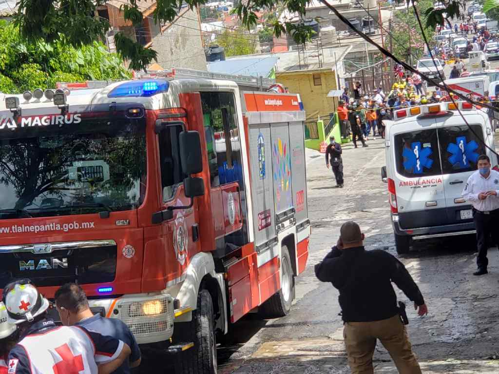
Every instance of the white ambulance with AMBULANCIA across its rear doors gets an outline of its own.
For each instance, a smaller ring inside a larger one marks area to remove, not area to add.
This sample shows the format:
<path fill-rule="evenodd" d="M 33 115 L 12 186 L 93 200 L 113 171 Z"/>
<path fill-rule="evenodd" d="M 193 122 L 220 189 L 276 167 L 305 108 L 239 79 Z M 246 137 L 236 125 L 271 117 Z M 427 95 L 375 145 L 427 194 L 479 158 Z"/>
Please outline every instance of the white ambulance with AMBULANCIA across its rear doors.
<path fill-rule="evenodd" d="M 469 128 L 452 102 L 394 110 L 386 121 L 388 200 L 397 253 L 407 253 L 411 240 L 475 232 L 471 205 L 461 193 L 477 170 L 477 159 L 492 149 L 489 117 L 471 104 L 458 101 Z"/>

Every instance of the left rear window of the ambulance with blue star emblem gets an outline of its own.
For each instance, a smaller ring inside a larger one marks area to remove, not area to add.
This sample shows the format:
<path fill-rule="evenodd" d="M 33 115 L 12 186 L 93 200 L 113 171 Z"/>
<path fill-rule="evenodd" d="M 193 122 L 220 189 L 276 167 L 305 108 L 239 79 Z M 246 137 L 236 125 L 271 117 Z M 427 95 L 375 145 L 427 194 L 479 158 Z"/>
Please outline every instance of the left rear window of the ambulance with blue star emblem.
<path fill-rule="evenodd" d="M 437 130 L 420 130 L 395 135 L 395 164 L 404 177 L 442 174 Z"/>

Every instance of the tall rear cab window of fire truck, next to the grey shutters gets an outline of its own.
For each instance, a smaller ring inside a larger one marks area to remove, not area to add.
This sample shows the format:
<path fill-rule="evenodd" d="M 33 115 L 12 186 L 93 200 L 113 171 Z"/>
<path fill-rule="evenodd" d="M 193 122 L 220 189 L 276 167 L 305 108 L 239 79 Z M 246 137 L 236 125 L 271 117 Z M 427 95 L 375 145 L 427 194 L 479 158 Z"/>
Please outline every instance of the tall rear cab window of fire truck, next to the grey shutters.
<path fill-rule="evenodd" d="M 212 187 L 242 180 L 241 146 L 232 92 L 202 92 Z"/>

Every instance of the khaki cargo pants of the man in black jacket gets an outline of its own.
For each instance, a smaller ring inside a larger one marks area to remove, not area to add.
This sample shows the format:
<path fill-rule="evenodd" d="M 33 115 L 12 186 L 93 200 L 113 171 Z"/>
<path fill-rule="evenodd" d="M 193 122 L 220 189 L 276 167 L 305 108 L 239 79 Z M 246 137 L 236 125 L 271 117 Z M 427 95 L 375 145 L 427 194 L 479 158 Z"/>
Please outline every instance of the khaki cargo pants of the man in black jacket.
<path fill-rule="evenodd" d="M 376 340 L 390 353 L 400 374 L 421 374 L 400 317 L 374 322 L 346 322 L 343 330 L 352 374 L 373 374 Z"/>

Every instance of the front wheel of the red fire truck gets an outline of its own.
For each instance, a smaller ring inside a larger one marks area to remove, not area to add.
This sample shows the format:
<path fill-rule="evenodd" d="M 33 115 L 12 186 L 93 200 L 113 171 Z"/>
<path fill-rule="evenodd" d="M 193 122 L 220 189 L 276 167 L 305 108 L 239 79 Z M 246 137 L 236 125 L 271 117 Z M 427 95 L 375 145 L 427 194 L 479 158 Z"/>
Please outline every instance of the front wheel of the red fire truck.
<path fill-rule="evenodd" d="M 208 290 L 198 294 L 198 309 L 192 322 L 182 323 L 182 339 L 194 342 L 194 347 L 183 352 L 183 371 L 179 374 L 217 374 L 217 341 L 212 297 Z M 176 373 L 177 374 L 177 373 Z"/>

